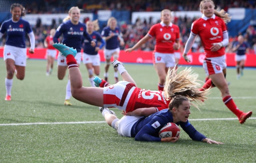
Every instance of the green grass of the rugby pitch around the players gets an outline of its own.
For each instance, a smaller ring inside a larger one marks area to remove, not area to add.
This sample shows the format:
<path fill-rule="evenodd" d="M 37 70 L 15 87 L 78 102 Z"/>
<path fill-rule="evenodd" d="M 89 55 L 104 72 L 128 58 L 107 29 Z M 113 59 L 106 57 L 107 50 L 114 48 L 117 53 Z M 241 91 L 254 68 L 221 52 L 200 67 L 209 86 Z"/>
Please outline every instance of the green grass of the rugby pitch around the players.
<path fill-rule="evenodd" d="M 104 120 L 98 107 L 74 98 L 73 106 L 64 106 L 67 77 L 62 81 L 57 79 L 56 62 L 53 74 L 46 77 L 45 66 L 45 60 L 28 60 L 25 79 L 14 78 L 12 101 L 5 101 L 6 70 L 2 61 L 0 124 Z M 125 64 L 125 67 L 139 87 L 157 89 L 158 77 L 152 65 Z M 203 68 L 193 69 L 204 80 Z M 90 86 L 85 66 L 81 65 L 80 70 L 84 86 Z M 244 76 L 236 80 L 235 69 L 227 70 L 232 97 L 241 110 L 252 110 L 252 117 L 256 113 L 255 72 L 245 69 Z M 113 83 L 113 69 L 109 74 Z M 113 110 L 118 117 L 122 116 L 121 111 Z M 189 118 L 236 118 L 223 104 L 217 88 L 211 90 L 200 110 L 192 107 Z M 242 125 L 238 120 L 190 122 L 207 137 L 225 144 L 192 141 L 182 129 L 176 143 L 161 143 L 121 137 L 106 123 L 1 125 L 0 162 L 255 162 L 256 119 L 249 118 Z"/>

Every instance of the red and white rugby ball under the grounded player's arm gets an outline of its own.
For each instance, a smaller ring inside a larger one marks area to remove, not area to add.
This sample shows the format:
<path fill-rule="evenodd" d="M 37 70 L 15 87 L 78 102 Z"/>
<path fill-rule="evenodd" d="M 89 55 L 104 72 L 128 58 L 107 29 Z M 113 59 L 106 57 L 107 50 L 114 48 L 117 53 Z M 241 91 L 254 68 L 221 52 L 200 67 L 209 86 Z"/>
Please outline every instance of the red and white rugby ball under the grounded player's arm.
<path fill-rule="evenodd" d="M 178 137 L 180 135 L 180 128 L 173 122 L 166 123 L 159 131 L 160 138 Z"/>

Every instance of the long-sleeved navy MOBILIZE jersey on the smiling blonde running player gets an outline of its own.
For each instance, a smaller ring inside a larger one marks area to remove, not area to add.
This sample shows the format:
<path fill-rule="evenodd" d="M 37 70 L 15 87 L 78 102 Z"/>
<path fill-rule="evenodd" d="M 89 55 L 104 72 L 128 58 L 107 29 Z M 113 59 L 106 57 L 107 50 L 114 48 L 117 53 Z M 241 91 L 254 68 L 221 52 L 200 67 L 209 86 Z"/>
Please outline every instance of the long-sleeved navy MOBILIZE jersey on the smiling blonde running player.
<path fill-rule="evenodd" d="M 74 25 L 70 20 L 60 24 L 53 36 L 54 43 L 59 43 L 58 38 L 63 34 L 62 43 L 68 47 L 73 47 L 77 52 L 81 52 L 83 38 L 92 41 L 90 35 L 86 32 L 86 25 L 78 23 Z"/>

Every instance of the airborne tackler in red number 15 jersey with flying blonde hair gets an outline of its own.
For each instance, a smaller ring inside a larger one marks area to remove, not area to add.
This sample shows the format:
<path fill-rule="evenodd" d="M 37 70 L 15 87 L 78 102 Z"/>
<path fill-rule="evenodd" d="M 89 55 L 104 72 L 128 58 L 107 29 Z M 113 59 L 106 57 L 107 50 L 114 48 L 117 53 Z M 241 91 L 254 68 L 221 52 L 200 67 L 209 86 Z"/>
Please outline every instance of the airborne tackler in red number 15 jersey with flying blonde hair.
<path fill-rule="evenodd" d="M 200 86 L 197 80 L 198 74 L 192 74 L 191 69 L 185 69 L 178 74 L 175 73 L 175 70 L 168 71 L 165 92 L 138 88 L 122 63 L 117 60 L 114 60 L 112 65 L 125 81 L 119 81 L 107 87 L 83 87 L 81 73 L 74 58 L 77 53 L 76 50 L 63 44 L 53 44 L 53 46 L 66 56 L 72 96 L 94 106 L 117 107 L 126 112 L 136 109 L 138 113 L 136 115 L 147 116 L 158 110 L 168 108 L 170 99 L 175 95 L 180 94 L 191 100 L 201 101 L 206 99 L 208 94 L 208 90 L 198 90 Z M 106 81 L 105 83 L 100 81 L 100 85 L 104 86 L 105 84 L 107 84 Z"/>

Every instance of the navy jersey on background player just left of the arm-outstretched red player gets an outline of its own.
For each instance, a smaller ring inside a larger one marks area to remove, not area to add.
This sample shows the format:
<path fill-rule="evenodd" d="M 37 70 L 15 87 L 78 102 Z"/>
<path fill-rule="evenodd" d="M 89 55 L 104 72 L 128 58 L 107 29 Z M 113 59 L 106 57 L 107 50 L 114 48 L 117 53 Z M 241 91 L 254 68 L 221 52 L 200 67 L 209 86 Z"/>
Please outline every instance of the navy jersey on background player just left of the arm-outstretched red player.
<path fill-rule="evenodd" d="M 116 49 L 120 45 L 118 40 L 120 30 L 118 27 L 116 27 L 114 30 L 111 30 L 110 27 L 104 27 L 101 32 L 101 35 L 102 37 L 108 37 L 111 33 L 114 33 L 115 35 L 106 41 L 106 49 L 108 50 Z"/>

